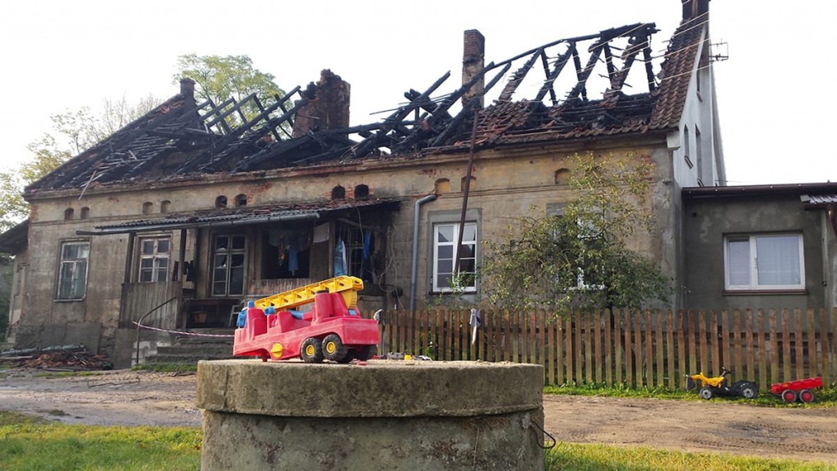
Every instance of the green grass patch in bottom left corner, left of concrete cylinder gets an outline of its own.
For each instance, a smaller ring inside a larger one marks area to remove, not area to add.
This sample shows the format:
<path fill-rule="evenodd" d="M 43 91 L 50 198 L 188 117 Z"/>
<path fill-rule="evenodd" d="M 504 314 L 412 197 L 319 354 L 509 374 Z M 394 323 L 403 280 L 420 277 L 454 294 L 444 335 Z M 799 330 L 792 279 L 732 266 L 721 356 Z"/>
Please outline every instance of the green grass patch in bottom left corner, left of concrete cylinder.
<path fill-rule="evenodd" d="M 0 469 L 198 469 L 198 427 L 103 427 L 0 412 Z"/>

